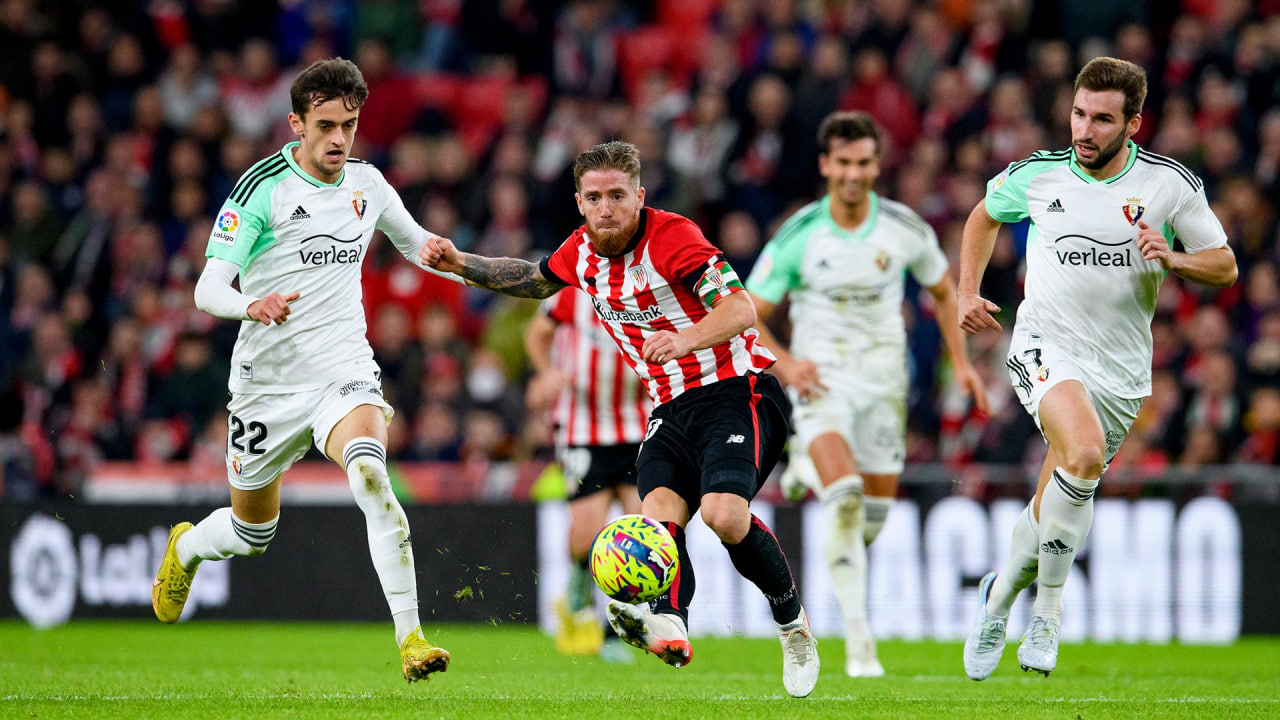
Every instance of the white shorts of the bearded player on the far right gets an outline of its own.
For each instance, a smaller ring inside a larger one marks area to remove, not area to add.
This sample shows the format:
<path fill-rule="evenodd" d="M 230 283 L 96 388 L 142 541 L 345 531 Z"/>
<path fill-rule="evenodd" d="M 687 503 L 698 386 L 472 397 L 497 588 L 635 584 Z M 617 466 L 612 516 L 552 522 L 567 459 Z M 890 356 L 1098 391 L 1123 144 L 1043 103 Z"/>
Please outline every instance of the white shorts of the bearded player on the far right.
<path fill-rule="evenodd" d="M 1009 359 L 1005 361 L 1014 392 L 1027 413 L 1036 419 L 1036 427 L 1044 428 L 1039 420 L 1039 404 L 1044 393 L 1064 380 L 1079 380 L 1084 384 L 1093 410 L 1102 421 L 1102 432 L 1107 441 L 1106 462 L 1120 451 L 1120 443 L 1129 436 L 1129 428 L 1138 418 L 1142 397 L 1120 397 L 1107 392 L 1093 377 L 1080 369 L 1061 347 L 1025 328 L 1014 328 L 1014 338 L 1009 346 Z"/>

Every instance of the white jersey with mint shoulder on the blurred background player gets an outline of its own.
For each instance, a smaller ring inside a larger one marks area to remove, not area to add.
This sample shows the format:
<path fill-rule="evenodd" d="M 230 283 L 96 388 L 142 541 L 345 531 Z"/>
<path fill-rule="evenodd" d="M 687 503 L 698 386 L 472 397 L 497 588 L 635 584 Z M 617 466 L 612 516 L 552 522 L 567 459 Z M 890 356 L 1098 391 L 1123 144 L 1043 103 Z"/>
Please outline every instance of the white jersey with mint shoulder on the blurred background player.
<path fill-rule="evenodd" d="M 909 272 L 924 287 L 942 282 L 947 258 L 937 234 L 906 205 L 873 192 L 854 229 L 836 224 L 829 197 L 797 210 L 764 246 L 746 288 L 773 304 L 790 295 L 791 354 L 838 370 L 851 354 L 901 355 Z"/>

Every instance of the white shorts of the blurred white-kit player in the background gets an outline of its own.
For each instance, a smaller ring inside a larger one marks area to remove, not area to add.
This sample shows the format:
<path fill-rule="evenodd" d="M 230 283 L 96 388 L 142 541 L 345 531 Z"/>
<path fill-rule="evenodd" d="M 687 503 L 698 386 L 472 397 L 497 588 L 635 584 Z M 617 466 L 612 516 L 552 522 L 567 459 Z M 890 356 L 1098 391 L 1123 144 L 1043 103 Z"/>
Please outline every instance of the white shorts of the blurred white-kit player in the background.
<path fill-rule="evenodd" d="M 801 400 L 791 392 L 792 451 L 808 452 L 814 438 L 836 433 L 854 451 L 859 473 L 900 475 L 906 459 L 905 348 L 864 352 L 850 366 L 819 365 L 827 391 Z"/>

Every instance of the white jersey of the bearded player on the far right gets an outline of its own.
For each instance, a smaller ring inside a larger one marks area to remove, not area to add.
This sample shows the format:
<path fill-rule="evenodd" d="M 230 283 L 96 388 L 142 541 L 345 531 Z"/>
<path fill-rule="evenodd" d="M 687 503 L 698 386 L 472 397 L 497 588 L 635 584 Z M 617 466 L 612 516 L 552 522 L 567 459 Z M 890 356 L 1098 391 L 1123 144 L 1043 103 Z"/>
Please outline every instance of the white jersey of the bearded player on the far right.
<path fill-rule="evenodd" d="M 1166 272 L 1143 260 L 1138 222 L 1188 254 L 1226 245 L 1204 184 L 1175 160 L 1128 146 L 1120 174 L 1097 181 L 1074 150 L 1041 151 L 987 183 L 987 214 L 1030 218 L 1027 299 L 1018 328 L 1075 354 L 1098 384 L 1120 397 L 1151 395 L 1151 319 Z"/>

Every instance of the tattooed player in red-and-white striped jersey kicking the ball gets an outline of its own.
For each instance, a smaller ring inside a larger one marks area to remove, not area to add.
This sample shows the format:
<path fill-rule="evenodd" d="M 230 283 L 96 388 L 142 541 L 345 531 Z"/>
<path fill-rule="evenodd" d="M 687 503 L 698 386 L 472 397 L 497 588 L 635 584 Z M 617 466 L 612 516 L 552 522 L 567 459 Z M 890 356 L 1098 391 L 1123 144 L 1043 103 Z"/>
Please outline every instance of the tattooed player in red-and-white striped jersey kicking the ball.
<path fill-rule="evenodd" d="M 586 223 L 541 263 L 481 258 L 434 237 L 419 252 L 430 268 L 518 297 L 582 290 L 655 409 L 640 457 L 641 511 L 667 525 L 680 550 L 671 591 L 650 609 L 609 603 L 618 635 L 685 665 L 694 569 L 685 525 L 701 510 L 733 568 L 764 593 L 782 642 L 782 684 L 795 697 L 818 680 L 817 642 L 782 547 L 749 502 L 790 432 L 791 404 L 763 370 L 773 356 L 753 328 L 755 306 L 724 256 L 686 218 L 645 208 L 640 154 L 605 142 L 573 161 Z"/>

